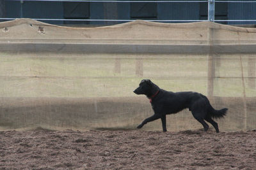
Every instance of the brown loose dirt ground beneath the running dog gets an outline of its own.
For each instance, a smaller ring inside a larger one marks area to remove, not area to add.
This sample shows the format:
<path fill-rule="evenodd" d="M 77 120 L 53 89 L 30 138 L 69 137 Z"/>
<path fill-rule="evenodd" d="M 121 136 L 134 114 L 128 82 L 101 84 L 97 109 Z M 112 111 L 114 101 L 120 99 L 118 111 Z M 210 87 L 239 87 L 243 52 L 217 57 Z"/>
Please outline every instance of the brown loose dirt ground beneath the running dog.
<path fill-rule="evenodd" d="M 256 169 L 256 131 L 2 131 L 0 169 Z"/>

